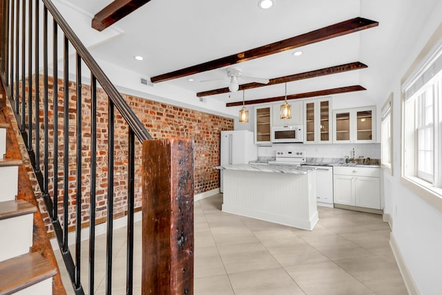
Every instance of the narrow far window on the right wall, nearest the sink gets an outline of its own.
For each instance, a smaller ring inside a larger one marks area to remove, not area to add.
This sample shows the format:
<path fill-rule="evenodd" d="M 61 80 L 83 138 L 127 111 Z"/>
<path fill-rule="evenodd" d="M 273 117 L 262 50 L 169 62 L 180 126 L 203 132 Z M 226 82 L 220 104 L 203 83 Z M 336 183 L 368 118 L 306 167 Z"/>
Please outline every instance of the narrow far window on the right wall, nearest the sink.
<path fill-rule="evenodd" d="M 385 102 L 382 107 L 382 117 L 381 117 L 381 165 L 390 174 L 392 173 L 392 162 L 393 162 L 393 93 L 388 97 L 387 102 Z"/>

